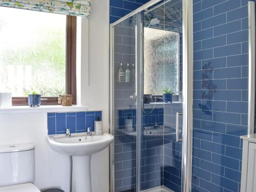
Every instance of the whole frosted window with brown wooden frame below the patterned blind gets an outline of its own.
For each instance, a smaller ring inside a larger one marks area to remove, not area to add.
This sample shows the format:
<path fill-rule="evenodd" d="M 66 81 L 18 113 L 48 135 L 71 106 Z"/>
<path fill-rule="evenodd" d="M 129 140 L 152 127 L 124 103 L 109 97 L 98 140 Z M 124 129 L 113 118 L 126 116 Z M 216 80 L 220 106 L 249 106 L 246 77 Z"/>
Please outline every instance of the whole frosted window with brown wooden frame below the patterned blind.
<path fill-rule="evenodd" d="M 76 103 L 76 17 L 0 7 L 0 92 L 27 105 L 31 91 L 41 104 Z"/>

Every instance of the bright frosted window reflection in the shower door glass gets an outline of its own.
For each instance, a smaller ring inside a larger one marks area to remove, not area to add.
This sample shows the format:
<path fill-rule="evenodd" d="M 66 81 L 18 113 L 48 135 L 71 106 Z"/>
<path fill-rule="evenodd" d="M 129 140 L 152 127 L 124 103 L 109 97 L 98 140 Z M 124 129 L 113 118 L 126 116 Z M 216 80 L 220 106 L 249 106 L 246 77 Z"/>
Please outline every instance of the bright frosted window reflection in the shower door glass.
<path fill-rule="evenodd" d="M 179 94 L 179 33 L 144 28 L 144 94 Z"/>

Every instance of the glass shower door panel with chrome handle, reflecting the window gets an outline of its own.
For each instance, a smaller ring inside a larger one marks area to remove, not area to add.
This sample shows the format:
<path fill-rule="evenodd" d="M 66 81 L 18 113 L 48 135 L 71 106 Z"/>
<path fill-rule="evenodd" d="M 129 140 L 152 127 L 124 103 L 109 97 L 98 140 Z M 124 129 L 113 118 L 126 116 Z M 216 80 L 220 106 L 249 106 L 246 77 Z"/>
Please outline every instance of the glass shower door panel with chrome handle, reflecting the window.
<path fill-rule="evenodd" d="M 142 13 L 140 190 L 181 191 L 182 2 Z"/>

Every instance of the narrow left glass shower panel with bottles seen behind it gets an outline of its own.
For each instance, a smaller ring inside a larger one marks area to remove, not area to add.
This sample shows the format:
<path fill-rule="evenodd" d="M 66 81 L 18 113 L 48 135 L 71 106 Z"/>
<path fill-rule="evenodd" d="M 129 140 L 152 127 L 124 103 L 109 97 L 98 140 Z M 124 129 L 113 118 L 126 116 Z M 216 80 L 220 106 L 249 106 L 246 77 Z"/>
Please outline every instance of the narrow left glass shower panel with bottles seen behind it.
<path fill-rule="evenodd" d="M 113 27 L 114 191 L 136 191 L 136 15 Z"/>

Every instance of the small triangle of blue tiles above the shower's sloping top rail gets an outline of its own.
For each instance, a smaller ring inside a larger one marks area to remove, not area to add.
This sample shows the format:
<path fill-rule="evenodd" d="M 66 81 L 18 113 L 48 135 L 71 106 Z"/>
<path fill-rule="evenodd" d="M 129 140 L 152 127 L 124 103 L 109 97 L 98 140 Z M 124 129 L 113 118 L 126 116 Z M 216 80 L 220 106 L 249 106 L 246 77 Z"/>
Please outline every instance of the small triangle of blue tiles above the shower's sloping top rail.
<path fill-rule="evenodd" d="M 110 23 L 139 8 L 150 0 L 110 0 Z"/>

